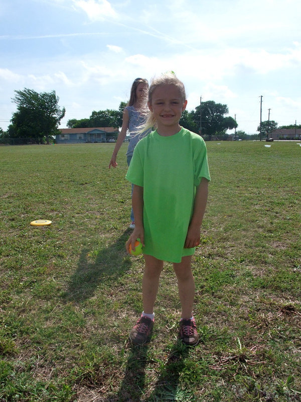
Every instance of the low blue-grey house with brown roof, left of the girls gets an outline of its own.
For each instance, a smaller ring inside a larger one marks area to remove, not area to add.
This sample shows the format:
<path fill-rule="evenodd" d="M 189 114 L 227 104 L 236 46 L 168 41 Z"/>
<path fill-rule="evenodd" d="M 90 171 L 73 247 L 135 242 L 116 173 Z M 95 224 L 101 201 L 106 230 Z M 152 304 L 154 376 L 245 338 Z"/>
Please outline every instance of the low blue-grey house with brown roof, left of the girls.
<path fill-rule="evenodd" d="M 60 129 L 56 135 L 57 144 L 77 144 L 85 142 L 114 142 L 119 130 L 114 127 L 88 127 L 79 129 Z"/>

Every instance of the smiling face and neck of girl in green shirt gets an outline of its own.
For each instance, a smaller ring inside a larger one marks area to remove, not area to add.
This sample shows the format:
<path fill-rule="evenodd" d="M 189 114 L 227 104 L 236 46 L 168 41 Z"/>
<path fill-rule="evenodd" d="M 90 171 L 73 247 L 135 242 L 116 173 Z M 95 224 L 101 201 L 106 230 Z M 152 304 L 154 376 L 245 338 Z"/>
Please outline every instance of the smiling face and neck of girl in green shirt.
<path fill-rule="evenodd" d="M 180 89 L 175 84 L 159 85 L 148 102 L 160 135 L 173 135 L 180 131 L 179 120 L 186 109 L 187 100 L 183 99 Z"/>

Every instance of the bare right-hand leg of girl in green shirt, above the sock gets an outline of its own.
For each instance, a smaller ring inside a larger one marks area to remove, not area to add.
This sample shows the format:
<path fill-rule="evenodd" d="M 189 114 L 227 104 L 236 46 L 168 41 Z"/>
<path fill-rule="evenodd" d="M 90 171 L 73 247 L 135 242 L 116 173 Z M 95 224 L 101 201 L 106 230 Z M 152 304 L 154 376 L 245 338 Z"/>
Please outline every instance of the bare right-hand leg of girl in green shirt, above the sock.
<path fill-rule="evenodd" d="M 192 308 L 195 296 L 195 283 L 191 270 L 192 256 L 182 258 L 179 263 L 174 263 L 174 271 L 178 278 L 178 289 L 182 306 L 181 318 L 189 319 L 192 317 Z"/>

